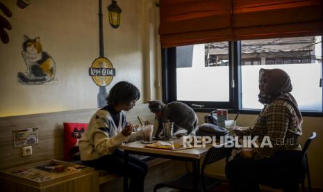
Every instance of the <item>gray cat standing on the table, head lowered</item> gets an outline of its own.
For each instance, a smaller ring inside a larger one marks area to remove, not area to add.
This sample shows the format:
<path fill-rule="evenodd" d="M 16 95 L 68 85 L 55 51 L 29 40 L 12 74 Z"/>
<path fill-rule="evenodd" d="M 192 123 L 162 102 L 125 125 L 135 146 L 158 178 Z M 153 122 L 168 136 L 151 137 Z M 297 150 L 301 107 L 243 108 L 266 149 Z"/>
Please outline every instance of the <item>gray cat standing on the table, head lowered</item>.
<path fill-rule="evenodd" d="M 159 138 L 160 133 L 163 131 L 163 122 L 174 122 L 173 132 L 183 128 L 188 130 L 187 134 L 190 134 L 195 127 L 197 127 L 197 115 L 193 109 L 187 104 L 181 102 L 171 102 L 164 104 L 160 101 L 149 101 L 149 109 L 152 113 L 155 113 L 158 120 L 158 129 L 155 137 Z"/>

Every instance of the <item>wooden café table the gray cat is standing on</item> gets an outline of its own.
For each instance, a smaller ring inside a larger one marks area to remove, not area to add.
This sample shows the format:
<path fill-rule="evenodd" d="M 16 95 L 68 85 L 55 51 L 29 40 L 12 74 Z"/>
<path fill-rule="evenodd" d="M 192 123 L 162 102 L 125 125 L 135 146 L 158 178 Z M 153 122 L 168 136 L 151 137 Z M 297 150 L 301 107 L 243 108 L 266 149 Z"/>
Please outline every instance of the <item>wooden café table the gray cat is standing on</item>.
<path fill-rule="evenodd" d="M 174 139 L 176 140 L 176 139 Z M 173 140 L 173 141 L 174 141 Z M 172 141 L 169 141 L 172 142 Z M 211 146 L 200 147 L 200 148 L 190 148 L 187 150 L 161 150 L 145 147 L 145 144 L 141 143 L 141 141 L 135 141 L 133 143 L 126 143 L 124 145 L 120 145 L 120 148 L 124 150 L 124 163 L 128 163 L 128 154 L 142 154 L 151 157 L 160 157 L 165 159 L 174 159 L 179 161 L 190 161 L 192 162 L 192 170 L 194 175 L 194 189 L 197 189 L 199 182 L 199 174 L 200 174 L 200 159 Z M 128 189 L 128 178 L 124 176 L 124 191 Z"/>

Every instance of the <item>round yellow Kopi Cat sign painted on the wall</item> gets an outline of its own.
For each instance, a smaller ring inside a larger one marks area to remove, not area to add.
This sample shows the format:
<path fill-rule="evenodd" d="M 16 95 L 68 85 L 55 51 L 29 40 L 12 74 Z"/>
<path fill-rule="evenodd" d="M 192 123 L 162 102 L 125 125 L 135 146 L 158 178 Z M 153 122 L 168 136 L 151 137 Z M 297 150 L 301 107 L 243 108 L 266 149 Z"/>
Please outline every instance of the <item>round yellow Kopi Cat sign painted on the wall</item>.
<path fill-rule="evenodd" d="M 89 75 L 97 86 L 108 86 L 115 76 L 115 68 L 105 57 L 96 58 L 89 68 Z"/>

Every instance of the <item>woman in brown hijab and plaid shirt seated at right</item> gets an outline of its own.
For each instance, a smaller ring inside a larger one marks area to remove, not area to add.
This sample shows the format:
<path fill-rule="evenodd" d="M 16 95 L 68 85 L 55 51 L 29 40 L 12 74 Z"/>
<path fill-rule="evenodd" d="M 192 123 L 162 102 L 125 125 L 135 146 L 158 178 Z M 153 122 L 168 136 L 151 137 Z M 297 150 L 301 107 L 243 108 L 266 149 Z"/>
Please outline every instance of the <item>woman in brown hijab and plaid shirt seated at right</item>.
<path fill-rule="evenodd" d="M 231 191 L 259 191 L 259 184 L 298 191 L 297 168 L 301 168 L 298 137 L 303 120 L 290 91 L 292 84 L 286 72 L 260 69 L 258 100 L 265 106 L 253 126 L 239 127 L 235 134 L 258 136 L 260 143 L 268 136 L 272 147 L 242 150 L 226 164 Z"/>

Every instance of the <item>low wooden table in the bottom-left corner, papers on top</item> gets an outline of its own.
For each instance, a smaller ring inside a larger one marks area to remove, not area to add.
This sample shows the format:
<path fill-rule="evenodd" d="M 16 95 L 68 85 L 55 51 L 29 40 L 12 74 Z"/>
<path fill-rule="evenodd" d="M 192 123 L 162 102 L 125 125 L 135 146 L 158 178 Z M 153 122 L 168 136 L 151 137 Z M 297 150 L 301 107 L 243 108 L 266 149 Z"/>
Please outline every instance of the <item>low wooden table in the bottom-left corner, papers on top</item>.
<path fill-rule="evenodd" d="M 65 167 L 63 173 L 39 169 L 56 163 Z M 67 167 L 82 167 L 69 173 Z M 65 161 L 49 160 L 0 171 L 0 191 L 13 192 L 99 192 L 99 173 L 94 168 Z"/>

